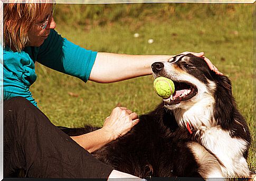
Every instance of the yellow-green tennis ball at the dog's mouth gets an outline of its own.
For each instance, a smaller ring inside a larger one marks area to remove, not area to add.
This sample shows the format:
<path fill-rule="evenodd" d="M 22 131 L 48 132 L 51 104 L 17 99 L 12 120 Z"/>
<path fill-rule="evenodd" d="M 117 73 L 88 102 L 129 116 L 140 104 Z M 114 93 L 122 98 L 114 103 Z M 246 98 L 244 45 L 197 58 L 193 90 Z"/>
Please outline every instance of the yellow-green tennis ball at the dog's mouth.
<path fill-rule="evenodd" d="M 175 90 L 173 81 L 166 77 L 157 77 L 154 81 L 154 88 L 158 96 L 163 98 L 170 97 Z"/>

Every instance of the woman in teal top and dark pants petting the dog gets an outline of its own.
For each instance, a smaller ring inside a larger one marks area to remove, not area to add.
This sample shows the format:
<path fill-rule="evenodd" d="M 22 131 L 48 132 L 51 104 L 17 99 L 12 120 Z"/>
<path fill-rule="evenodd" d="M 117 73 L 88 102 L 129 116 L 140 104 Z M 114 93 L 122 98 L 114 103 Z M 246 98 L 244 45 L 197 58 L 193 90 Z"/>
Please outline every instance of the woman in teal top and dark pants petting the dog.
<path fill-rule="evenodd" d="M 26 177 L 134 177 L 89 153 L 126 134 L 138 123 L 137 114 L 117 107 L 101 129 L 70 138 L 37 108 L 29 90 L 36 80 L 34 63 L 84 82 L 112 83 L 149 75 L 152 63 L 172 56 L 88 51 L 54 31 L 52 12 L 52 4 L 4 4 L 4 177 L 16 177 L 21 169 Z M 203 57 L 203 53 L 194 55 Z"/>

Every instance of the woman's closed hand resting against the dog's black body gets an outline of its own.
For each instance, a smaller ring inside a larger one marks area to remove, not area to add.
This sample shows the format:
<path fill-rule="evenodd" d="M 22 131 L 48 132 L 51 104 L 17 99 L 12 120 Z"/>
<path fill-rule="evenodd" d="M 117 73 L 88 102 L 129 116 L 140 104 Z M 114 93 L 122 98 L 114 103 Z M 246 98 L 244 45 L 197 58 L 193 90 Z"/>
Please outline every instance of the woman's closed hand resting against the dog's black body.
<path fill-rule="evenodd" d="M 108 132 L 113 140 L 125 135 L 139 122 L 138 115 L 126 107 L 116 107 L 105 119 L 101 129 Z"/>

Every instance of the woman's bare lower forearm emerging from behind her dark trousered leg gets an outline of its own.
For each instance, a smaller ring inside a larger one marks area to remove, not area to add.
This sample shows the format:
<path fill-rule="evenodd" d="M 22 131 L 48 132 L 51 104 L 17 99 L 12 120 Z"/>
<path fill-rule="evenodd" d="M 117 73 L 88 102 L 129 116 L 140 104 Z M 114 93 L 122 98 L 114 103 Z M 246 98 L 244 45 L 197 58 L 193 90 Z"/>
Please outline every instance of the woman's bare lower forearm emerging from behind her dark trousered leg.
<path fill-rule="evenodd" d="M 102 128 L 80 136 L 71 136 L 71 138 L 81 147 L 88 150 L 89 153 L 94 152 L 115 139 Z"/>

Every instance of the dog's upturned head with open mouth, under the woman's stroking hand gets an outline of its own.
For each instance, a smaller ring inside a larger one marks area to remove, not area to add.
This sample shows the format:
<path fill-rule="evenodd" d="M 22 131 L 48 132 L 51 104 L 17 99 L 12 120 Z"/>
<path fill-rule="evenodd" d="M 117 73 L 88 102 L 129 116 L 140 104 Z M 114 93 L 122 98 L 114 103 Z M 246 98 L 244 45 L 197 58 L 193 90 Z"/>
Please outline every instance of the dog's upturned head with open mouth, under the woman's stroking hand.
<path fill-rule="evenodd" d="M 203 58 L 192 54 L 177 55 L 151 67 L 155 78 L 163 76 L 174 82 L 174 94 L 163 102 L 176 113 L 178 123 L 189 122 L 194 127 L 216 125 L 214 107 L 220 104 L 220 97 L 232 99 L 231 82 L 226 76 L 216 75 Z"/>

